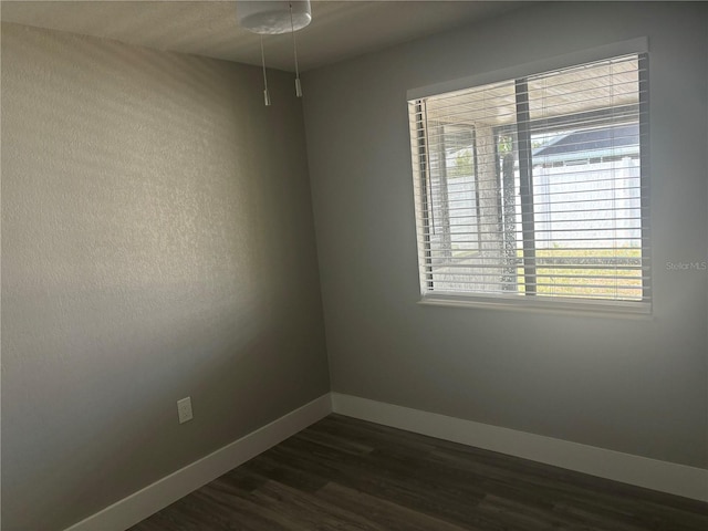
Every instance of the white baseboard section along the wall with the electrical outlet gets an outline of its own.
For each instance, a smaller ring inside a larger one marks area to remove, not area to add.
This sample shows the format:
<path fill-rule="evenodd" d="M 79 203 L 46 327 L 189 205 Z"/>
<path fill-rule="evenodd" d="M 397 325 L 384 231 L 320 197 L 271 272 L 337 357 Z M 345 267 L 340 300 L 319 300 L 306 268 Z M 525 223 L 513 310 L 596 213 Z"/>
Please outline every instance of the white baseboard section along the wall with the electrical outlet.
<path fill-rule="evenodd" d="M 65 531 L 123 531 L 332 412 L 330 394 L 170 473 Z"/>

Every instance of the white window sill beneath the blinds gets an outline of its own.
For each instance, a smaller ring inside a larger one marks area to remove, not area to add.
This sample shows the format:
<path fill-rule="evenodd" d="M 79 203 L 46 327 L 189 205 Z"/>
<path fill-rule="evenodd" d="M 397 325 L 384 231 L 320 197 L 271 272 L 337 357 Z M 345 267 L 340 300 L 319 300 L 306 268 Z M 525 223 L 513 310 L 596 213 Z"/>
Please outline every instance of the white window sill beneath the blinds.
<path fill-rule="evenodd" d="M 631 319 L 653 321 L 650 304 L 605 301 L 550 300 L 542 298 L 520 296 L 460 296 L 460 295 L 423 295 L 418 304 L 426 306 L 451 306 L 482 310 L 501 310 L 509 312 L 527 312 L 548 315 L 564 315 L 602 319 Z"/>

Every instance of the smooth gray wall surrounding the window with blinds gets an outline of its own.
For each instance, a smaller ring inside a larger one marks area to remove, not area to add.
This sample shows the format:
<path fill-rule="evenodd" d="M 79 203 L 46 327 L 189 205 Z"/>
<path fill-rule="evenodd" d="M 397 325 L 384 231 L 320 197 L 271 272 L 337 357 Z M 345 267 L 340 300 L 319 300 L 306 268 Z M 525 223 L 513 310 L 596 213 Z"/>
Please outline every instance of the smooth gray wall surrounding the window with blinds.
<path fill-rule="evenodd" d="M 334 392 L 707 467 L 706 3 L 569 2 L 305 75 Z M 406 91 L 647 35 L 653 320 L 419 300 Z"/>

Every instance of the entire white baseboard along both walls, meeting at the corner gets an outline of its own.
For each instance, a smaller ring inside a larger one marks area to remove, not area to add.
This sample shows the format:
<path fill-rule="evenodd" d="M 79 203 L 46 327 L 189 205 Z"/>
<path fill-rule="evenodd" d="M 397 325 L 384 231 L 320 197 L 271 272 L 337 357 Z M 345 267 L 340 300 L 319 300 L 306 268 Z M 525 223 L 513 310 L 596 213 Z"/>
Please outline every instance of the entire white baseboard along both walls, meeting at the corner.
<path fill-rule="evenodd" d="M 601 478 L 708 501 L 708 470 L 701 468 L 329 393 L 138 490 L 65 531 L 123 531 L 332 412 Z"/>

